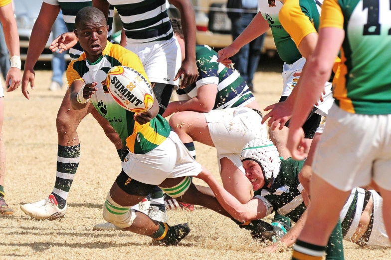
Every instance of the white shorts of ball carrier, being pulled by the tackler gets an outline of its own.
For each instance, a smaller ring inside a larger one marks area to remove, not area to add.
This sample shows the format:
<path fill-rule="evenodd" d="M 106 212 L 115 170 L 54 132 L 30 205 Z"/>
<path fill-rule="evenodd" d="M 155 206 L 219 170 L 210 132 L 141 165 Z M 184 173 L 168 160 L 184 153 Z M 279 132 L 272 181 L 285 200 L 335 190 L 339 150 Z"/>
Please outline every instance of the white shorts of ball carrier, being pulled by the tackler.
<path fill-rule="evenodd" d="M 197 176 L 202 170 L 173 131 L 154 150 L 146 154 L 129 153 L 124 161 L 122 169 L 130 178 L 153 185 L 169 178 Z"/>

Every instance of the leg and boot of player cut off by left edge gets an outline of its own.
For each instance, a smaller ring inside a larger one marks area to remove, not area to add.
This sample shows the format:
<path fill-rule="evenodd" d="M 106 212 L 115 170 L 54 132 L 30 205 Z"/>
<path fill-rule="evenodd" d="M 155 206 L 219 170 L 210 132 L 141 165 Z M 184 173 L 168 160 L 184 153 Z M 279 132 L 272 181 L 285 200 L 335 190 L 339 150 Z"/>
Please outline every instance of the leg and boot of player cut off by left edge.
<path fill-rule="evenodd" d="M 0 84 L 2 93 L 2 86 Z M 0 97 L 0 214 L 10 215 L 13 214 L 11 208 L 8 207 L 4 200 L 4 178 L 5 178 L 5 146 L 2 136 L 2 123 L 4 121 L 4 94 Z"/>

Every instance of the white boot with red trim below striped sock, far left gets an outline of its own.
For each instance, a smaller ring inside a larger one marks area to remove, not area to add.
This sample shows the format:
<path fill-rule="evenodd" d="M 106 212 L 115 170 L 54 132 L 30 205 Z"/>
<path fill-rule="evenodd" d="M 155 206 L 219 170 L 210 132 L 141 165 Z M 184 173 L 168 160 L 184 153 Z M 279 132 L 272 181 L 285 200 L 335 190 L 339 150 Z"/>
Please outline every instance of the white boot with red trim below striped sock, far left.
<path fill-rule="evenodd" d="M 66 204 L 63 209 L 58 208 L 57 205 L 56 198 L 53 194 L 50 194 L 49 197 L 44 200 L 20 205 L 20 209 L 25 214 L 38 220 L 55 220 L 63 218 L 67 209 Z"/>

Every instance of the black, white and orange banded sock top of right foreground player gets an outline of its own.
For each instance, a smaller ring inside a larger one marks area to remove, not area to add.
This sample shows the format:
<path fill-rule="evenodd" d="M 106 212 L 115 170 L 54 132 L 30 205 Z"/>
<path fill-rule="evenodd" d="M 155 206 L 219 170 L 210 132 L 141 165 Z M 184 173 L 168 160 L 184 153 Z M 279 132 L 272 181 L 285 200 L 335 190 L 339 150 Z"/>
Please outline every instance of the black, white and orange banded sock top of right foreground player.
<path fill-rule="evenodd" d="M 322 260 L 325 248 L 297 240 L 293 246 L 292 260 Z"/>

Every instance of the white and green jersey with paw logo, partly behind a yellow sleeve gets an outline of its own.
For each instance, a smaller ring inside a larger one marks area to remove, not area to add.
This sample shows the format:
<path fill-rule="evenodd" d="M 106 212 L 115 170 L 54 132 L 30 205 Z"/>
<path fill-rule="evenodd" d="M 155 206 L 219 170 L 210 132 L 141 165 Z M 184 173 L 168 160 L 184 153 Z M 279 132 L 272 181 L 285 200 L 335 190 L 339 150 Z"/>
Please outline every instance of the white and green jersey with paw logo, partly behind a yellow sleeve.
<path fill-rule="evenodd" d="M 302 56 L 295 42 L 278 19 L 282 3 L 279 0 L 258 0 L 258 5 L 263 18 L 269 23 L 278 55 L 287 64 L 293 64 Z"/>

